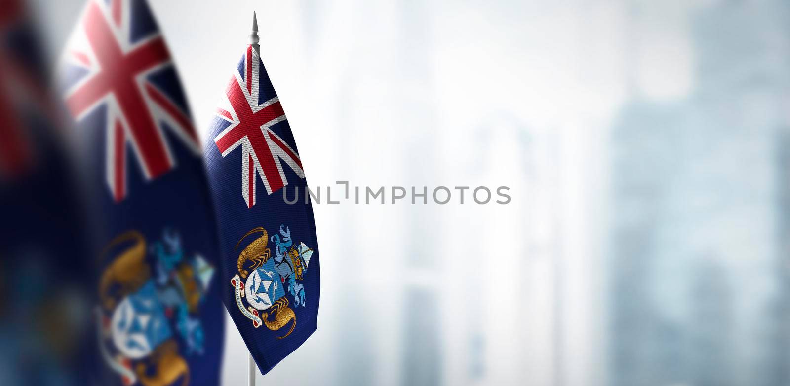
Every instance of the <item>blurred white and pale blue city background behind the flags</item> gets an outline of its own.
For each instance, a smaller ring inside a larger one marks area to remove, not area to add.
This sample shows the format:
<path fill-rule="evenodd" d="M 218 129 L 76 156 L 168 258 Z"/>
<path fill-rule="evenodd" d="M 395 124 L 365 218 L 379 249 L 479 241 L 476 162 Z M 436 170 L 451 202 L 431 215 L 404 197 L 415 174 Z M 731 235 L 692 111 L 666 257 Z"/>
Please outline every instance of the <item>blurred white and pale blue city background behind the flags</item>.
<path fill-rule="evenodd" d="M 54 66 L 85 1 L 32 3 Z M 787 2 L 150 3 L 198 129 L 256 10 L 312 185 L 510 186 L 314 205 L 318 332 L 258 384 L 790 384 Z"/>

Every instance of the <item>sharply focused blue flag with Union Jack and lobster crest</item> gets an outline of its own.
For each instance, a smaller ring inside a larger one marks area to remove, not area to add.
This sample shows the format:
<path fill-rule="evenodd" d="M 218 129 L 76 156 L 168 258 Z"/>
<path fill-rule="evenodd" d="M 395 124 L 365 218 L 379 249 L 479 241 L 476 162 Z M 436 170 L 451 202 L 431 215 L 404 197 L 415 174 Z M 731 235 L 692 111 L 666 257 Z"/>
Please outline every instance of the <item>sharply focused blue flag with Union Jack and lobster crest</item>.
<path fill-rule="evenodd" d="M 223 300 L 261 373 L 315 331 L 320 272 L 307 180 L 280 99 L 250 45 L 205 138 Z M 299 200 L 293 202 L 301 194 Z"/>

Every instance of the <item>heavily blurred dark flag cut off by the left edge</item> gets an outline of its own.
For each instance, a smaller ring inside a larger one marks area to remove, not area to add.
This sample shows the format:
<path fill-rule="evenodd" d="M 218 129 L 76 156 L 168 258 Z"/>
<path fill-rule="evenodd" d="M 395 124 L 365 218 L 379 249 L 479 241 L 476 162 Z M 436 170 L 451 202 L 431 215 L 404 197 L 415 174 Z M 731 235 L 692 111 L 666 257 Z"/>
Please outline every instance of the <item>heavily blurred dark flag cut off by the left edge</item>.
<path fill-rule="evenodd" d="M 81 385 L 90 264 L 41 47 L 0 0 L 0 384 Z"/>

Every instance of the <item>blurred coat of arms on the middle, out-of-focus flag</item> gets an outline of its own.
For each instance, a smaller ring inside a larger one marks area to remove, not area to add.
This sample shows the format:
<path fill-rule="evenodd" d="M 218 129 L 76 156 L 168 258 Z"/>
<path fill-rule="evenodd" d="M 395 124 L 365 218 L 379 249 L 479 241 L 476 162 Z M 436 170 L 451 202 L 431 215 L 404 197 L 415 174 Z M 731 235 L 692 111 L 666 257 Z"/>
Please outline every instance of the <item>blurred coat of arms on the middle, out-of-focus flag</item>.
<path fill-rule="evenodd" d="M 199 254 L 187 255 L 175 232 L 149 245 L 130 230 L 105 251 L 112 260 L 96 309 L 104 362 L 123 384 L 189 384 L 184 356 L 203 354 L 200 305 L 214 268 Z"/>

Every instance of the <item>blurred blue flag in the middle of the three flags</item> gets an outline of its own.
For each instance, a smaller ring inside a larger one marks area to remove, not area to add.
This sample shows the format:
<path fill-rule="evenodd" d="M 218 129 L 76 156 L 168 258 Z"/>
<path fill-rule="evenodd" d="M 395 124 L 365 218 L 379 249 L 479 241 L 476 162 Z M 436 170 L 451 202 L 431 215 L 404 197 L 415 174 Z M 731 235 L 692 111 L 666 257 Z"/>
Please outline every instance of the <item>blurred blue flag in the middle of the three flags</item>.
<path fill-rule="evenodd" d="M 219 384 L 224 315 L 198 137 L 144 0 L 89 0 L 61 87 L 92 203 L 100 384 Z"/>

